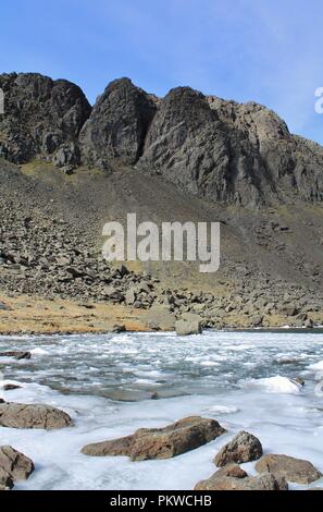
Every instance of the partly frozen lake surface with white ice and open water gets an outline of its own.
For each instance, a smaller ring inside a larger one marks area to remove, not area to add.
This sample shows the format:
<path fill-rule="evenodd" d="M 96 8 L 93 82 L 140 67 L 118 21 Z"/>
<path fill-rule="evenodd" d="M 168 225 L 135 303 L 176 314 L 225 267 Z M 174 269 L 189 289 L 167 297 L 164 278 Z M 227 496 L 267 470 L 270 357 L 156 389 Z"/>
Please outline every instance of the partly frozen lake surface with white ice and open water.
<path fill-rule="evenodd" d="M 33 354 L 0 358 L 4 382 L 23 386 L 5 392 L 5 400 L 48 403 L 75 422 L 55 431 L 0 428 L 0 444 L 12 444 L 36 465 L 16 489 L 191 489 L 214 473 L 212 459 L 240 429 L 258 436 L 265 452 L 308 459 L 323 472 L 320 332 L 0 337 L 5 350 Z M 159 400 L 151 400 L 156 393 Z M 190 415 L 213 417 L 228 434 L 166 461 L 79 452 L 89 442 Z M 254 473 L 253 464 L 244 467 Z"/>

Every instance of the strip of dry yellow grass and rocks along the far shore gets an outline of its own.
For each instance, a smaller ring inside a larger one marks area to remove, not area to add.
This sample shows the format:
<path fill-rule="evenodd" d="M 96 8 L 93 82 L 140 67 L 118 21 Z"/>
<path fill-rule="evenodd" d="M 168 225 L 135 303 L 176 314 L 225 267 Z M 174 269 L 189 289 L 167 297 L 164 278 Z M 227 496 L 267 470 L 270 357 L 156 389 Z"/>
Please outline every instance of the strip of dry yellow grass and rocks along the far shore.
<path fill-rule="evenodd" d="M 269 315 L 241 316 L 231 312 L 222 322 L 206 321 L 197 313 L 175 314 L 169 305 L 156 304 L 149 309 L 132 306 L 74 302 L 69 300 L 46 300 L 42 297 L 0 296 L 0 334 L 77 334 L 110 332 L 154 332 L 176 331 L 178 336 L 201 332 L 201 329 L 225 330 L 277 330 L 277 329 L 320 329 L 321 314 L 299 314 L 295 316 Z M 194 309 L 192 309 L 194 312 Z M 260 321 L 261 317 L 261 321 Z M 188 330 L 187 330 L 188 327 Z"/>

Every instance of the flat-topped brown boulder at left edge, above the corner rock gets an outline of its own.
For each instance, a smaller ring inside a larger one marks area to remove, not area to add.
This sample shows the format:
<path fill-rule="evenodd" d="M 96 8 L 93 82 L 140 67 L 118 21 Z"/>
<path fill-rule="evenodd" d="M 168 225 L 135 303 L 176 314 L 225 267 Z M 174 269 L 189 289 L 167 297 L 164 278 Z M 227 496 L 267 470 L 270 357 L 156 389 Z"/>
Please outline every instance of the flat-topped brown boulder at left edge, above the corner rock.
<path fill-rule="evenodd" d="M 9 428 L 45 428 L 72 425 L 69 414 L 46 404 L 0 403 L 0 426 Z"/>

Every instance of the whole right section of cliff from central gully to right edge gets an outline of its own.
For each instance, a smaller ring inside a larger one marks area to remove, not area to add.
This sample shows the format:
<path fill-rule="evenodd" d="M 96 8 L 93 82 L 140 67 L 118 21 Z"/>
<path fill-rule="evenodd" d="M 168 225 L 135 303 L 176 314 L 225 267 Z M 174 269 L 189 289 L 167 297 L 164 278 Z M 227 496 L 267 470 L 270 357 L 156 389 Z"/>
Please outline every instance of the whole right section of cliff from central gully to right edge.
<path fill-rule="evenodd" d="M 178 87 L 162 100 L 140 164 L 212 200 L 260 206 L 323 198 L 323 149 L 262 106 Z"/>

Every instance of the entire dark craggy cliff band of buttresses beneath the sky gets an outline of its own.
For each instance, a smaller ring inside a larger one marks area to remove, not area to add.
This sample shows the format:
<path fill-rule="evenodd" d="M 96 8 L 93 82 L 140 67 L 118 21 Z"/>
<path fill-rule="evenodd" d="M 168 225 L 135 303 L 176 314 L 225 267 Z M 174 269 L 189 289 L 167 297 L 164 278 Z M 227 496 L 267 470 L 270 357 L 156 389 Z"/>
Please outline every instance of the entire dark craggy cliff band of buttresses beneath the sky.
<path fill-rule="evenodd" d="M 91 109 L 82 90 L 38 74 L 0 75 L 0 156 L 76 169 L 129 166 L 213 202 L 251 208 L 323 198 L 323 148 L 274 112 L 177 87 L 163 99 L 128 78 Z"/>

